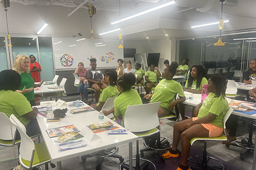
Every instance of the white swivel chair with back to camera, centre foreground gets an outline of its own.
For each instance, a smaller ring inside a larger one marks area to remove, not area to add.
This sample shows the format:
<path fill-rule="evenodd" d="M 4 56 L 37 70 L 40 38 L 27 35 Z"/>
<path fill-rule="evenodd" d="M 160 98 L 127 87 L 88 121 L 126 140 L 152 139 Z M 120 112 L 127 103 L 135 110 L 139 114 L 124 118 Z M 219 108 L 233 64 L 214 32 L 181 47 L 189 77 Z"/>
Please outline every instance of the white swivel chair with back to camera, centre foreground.
<path fill-rule="evenodd" d="M 159 106 L 160 102 L 128 106 L 124 116 L 124 127 L 129 129 L 130 132 L 134 133 L 139 138 L 144 138 L 159 133 L 159 130 L 156 128 L 159 126 L 157 116 Z M 144 169 L 138 165 L 138 159 L 151 163 L 156 169 L 156 166 L 149 160 L 139 158 L 138 140 L 136 141 L 136 152 L 137 156 L 133 159 L 136 160 L 135 169 Z M 125 164 L 128 161 L 129 160 L 123 162 L 119 166 L 119 169 L 129 169 L 129 165 Z"/>

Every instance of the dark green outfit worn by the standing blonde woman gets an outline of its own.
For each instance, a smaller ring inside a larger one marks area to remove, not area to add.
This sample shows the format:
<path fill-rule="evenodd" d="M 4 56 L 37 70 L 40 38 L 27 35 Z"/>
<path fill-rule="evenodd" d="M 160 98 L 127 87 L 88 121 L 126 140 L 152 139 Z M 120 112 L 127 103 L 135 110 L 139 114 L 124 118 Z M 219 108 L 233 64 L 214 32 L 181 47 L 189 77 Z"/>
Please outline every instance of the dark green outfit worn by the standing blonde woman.
<path fill-rule="evenodd" d="M 31 73 L 27 73 L 26 71 L 24 73 L 20 74 L 21 76 L 21 86 L 19 87 L 19 90 L 22 90 L 24 86 L 26 88 L 34 88 L 34 80 L 31 76 Z M 29 93 L 23 94 L 25 97 L 27 97 L 28 101 L 34 100 L 34 90 L 30 91 Z"/>

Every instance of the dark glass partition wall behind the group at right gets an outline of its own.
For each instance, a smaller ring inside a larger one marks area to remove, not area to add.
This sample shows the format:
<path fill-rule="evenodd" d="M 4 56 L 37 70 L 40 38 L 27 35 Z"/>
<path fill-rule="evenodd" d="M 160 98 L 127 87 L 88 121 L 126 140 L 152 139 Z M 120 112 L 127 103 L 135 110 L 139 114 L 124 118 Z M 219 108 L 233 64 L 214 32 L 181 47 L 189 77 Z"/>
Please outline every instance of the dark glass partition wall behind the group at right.
<path fill-rule="evenodd" d="M 182 58 L 188 58 L 189 68 L 201 64 L 206 70 L 221 70 L 228 79 L 233 79 L 236 71 L 243 75 L 249 69 L 250 61 L 256 58 L 256 33 L 222 36 L 225 46 L 214 46 L 218 36 L 193 39 L 177 40 L 177 61 L 181 64 Z M 242 77 L 239 76 L 237 81 L 242 82 Z"/>

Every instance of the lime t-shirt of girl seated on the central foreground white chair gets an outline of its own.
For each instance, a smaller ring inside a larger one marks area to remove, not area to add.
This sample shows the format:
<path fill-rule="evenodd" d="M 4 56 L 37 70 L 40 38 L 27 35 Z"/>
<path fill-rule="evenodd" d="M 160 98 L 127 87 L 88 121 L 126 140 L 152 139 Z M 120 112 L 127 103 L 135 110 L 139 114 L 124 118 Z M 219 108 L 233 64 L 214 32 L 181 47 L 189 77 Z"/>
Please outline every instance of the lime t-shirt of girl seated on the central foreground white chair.
<path fill-rule="evenodd" d="M 114 115 L 122 115 L 122 126 L 124 126 L 124 115 L 128 106 L 142 104 L 142 99 L 135 89 L 130 89 L 114 99 Z"/>

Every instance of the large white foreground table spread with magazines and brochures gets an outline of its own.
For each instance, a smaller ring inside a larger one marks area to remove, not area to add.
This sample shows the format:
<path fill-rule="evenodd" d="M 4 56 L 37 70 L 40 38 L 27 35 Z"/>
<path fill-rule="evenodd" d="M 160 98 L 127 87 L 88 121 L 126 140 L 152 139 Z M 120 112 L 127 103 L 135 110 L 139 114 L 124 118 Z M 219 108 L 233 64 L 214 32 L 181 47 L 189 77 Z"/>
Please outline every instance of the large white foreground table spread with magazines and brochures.
<path fill-rule="evenodd" d="M 67 102 L 67 104 L 68 103 L 71 103 L 71 102 Z M 85 106 L 87 106 L 87 104 L 85 104 Z M 57 109 L 57 108 L 60 108 L 60 107 L 53 107 L 53 109 Z M 75 109 L 75 107 L 66 107 L 66 108 Z M 43 117 L 41 115 L 37 116 L 37 121 L 41 130 L 42 137 L 44 139 L 45 146 L 48 149 L 52 162 L 57 162 L 58 170 L 62 169 L 61 161 L 75 158 L 76 156 L 89 154 L 102 149 L 107 149 L 110 147 L 122 145 L 128 142 L 129 142 L 129 160 L 132 160 L 132 142 L 138 140 L 138 137 L 133 133 L 130 133 L 128 135 L 109 135 L 108 136 L 106 135 L 106 132 L 101 132 L 101 133 L 95 134 L 99 139 L 95 139 L 95 140 L 92 139 L 91 141 L 89 141 L 86 138 L 86 135 L 88 134 L 86 125 L 101 123 L 98 121 L 98 114 L 99 114 L 98 111 L 90 111 L 90 112 L 79 113 L 79 114 L 71 114 L 69 111 L 67 111 L 66 116 L 63 119 L 61 119 L 60 122 L 46 122 L 46 117 Z M 106 116 L 104 116 L 104 121 L 106 122 L 110 121 L 116 126 L 119 126 L 120 128 L 123 129 L 122 126 L 111 121 Z M 57 147 L 59 143 L 53 142 L 52 138 L 48 136 L 45 129 L 67 126 L 67 125 L 75 125 L 80 130 L 80 134 L 85 136 L 82 139 L 86 141 L 87 143 L 86 147 L 58 152 Z M 130 169 L 132 169 L 132 161 L 130 161 Z"/>

